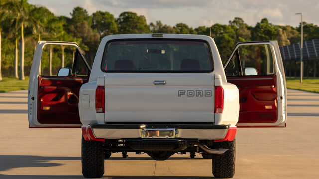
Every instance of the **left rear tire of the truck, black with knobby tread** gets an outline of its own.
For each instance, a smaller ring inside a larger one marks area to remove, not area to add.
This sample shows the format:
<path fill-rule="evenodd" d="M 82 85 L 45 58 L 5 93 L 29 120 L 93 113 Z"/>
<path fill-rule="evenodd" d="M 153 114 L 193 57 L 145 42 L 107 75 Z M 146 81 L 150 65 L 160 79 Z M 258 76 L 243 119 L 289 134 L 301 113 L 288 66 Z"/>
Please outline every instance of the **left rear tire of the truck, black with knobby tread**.
<path fill-rule="evenodd" d="M 82 174 L 86 178 L 100 178 L 104 174 L 103 142 L 86 141 L 82 136 Z"/>

